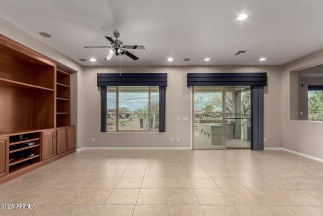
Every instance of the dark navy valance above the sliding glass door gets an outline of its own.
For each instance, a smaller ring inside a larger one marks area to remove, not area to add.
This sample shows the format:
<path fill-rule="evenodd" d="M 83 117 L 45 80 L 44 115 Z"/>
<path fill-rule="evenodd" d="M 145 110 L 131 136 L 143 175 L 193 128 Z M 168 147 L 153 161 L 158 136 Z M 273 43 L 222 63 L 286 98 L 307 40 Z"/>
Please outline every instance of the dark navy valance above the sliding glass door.
<path fill-rule="evenodd" d="M 188 73 L 187 86 L 265 86 L 267 73 Z"/>

